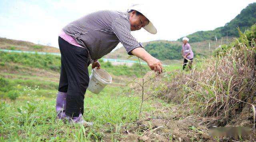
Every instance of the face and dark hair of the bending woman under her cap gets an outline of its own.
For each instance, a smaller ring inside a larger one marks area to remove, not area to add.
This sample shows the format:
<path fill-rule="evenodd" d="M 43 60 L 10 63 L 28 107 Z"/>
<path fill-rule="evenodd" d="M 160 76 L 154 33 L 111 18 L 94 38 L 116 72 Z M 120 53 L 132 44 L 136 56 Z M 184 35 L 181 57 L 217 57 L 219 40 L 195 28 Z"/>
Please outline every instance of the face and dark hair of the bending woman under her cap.
<path fill-rule="evenodd" d="M 136 11 L 130 12 L 131 31 L 140 30 L 148 24 L 148 19 L 143 15 L 136 15 Z"/>

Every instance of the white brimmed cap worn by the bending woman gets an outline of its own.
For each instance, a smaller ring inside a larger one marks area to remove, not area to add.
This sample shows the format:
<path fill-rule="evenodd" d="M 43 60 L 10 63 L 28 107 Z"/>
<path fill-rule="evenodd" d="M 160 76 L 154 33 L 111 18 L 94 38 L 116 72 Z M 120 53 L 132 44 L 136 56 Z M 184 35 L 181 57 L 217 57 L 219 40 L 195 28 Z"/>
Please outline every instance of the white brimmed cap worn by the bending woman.
<path fill-rule="evenodd" d="M 133 5 L 132 7 L 130 7 L 128 9 L 128 11 L 130 10 L 136 10 L 140 13 L 142 13 L 148 20 L 149 20 L 149 23 L 148 25 L 146 25 L 145 27 L 143 27 L 146 31 L 150 32 L 151 34 L 156 34 L 156 28 L 155 26 L 153 25 L 152 23 L 152 18 L 148 12 L 148 8 L 146 8 L 146 6 L 142 5 L 142 4 L 135 4 Z"/>

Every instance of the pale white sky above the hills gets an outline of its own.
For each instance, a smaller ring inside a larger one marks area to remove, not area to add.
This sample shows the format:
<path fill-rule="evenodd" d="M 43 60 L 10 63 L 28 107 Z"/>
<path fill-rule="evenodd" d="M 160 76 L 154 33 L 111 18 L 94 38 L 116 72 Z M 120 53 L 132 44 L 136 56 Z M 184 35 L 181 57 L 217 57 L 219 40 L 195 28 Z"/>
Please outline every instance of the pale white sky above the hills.
<path fill-rule="evenodd" d="M 133 4 L 146 4 L 158 32 L 153 35 L 142 29 L 132 35 L 140 42 L 177 40 L 224 26 L 253 2 L 256 0 L 0 0 L 0 37 L 58 47 L 62 28 L 86 14 L 126 12 Z"/>

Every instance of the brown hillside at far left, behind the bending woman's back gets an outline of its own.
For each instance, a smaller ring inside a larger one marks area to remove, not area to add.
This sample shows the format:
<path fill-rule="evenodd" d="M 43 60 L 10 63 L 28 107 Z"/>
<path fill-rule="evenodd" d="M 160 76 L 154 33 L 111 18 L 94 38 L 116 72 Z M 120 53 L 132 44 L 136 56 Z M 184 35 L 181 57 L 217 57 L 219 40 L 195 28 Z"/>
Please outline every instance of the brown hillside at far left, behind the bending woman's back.
<path fill-rule="evenodd" d="M 48 53 L 60 53 L 58 48 L 40 44 L 34 44 L 28 41 L 0 38 L 0 49 L 36 51 Z"/>

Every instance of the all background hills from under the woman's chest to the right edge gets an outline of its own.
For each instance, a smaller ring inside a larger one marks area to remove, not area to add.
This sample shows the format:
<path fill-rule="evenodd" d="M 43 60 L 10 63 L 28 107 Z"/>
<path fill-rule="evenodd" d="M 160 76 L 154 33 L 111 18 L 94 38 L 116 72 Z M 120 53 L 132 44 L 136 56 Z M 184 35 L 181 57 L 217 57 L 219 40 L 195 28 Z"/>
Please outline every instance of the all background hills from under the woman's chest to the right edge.
<path fill-rule="evenodd" d="M 256 3 L 249 4 L 238 14 L 233 20 L 227 23 L 224 27 L 216 28 L 212 31 L 198 31 L 188 35 L 190 38 L 190 45 L 195 55 L 211 55 L 212 50 L 219 45 L 230 43 L 234 41 L 233 37 L 238 37 L 237 27 L 242 32 L 250 28 L 256 23 Z M 227 38 L 228 34 L 228 38 Z M 218 39 L 216 41 L 216 38 Z M 181 58 L 181 42 L 178 41 L 157 40 L 142 43 L 144 49 L 154 57 L 163 61 L 163 63 L 173 63 L 173 60 Z M 116 49 L 105 56 L 106 58 L 127 59 L 128 55 L 123 47 Z M 130 60 L 138 60 L 136 57 L 129 58 Z"/>

